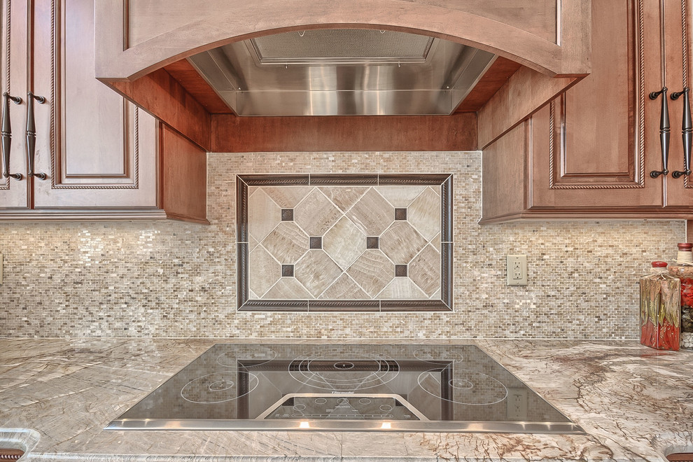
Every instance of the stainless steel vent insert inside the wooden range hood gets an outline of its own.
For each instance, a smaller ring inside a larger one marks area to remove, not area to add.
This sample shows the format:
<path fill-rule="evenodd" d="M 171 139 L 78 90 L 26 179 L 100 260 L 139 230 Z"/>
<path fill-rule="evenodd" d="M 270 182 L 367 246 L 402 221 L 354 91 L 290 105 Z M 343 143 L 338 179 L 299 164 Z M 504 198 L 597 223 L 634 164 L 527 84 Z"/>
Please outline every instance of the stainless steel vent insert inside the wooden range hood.
<path fill-rule="evenodd" d="M 447 115 L 495 59 L 370 29 L 286 32 L 188 58 L 239 116 Z"/>

